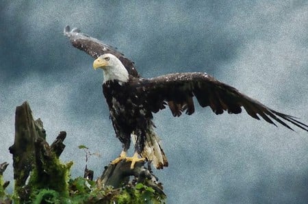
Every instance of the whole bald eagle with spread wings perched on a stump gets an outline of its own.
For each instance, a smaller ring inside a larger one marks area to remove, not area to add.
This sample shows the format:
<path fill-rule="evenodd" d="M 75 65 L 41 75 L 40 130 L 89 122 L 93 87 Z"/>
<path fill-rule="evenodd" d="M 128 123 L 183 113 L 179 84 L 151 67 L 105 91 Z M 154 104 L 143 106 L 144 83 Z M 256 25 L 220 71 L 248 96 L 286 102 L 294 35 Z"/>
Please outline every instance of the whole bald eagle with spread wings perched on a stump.
<path fill-rule="evenodd" d="M 215 114 L 224 111 L 240 114 L 244 107 L 250 116 L 258 120 L 261 117 L 275 126 L 273 120 L 276 120 L 292 129 L 283 121 L 287 120 L 308 131 L 308 125 L 294 116 L 274 111 L 206 73 L 173 73 L 144 79 L 138 75 L 133 62 L 113 47 L 81 34 L 79 30 L 70 31 L 69 27 L 64 34 L 75 47 L 93 58 L 98 57 L 93 62 L 94 69 L 103 69 L 103 94 L 116 136 L 123 143 L 120 157 L 112 164 L 127 160 L 131 161 L 133 168 L 136 162 L 148 160 L 156 168 L 168 166 L 161 141 L 154 131 L 153 113 L 168 106 L 173 116 L 181 116 L 182 112 L 193 114 L 193 97 L 201 107 L 209 106 Z M 135 153 L 133 157 L 127 157 L 131 138 L 135 141 Z"/>

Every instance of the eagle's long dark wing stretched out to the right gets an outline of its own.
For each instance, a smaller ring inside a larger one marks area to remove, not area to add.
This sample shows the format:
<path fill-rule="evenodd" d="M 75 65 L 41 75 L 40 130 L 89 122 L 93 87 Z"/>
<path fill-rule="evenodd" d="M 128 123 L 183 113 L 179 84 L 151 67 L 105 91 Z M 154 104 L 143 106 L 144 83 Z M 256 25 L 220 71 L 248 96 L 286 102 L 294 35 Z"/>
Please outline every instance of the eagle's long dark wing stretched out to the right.
<path fill-rule="evenodd" d="M 276 112 L 205 73 L 175 73 L 144 79 L 139 83 L 138 88 L 146 94 L 146 101 L 152 112 L 163 109 L 166 101 L 173 116 L 180 116 L 183 111 L 186 111 L 186 114 L 192 114 L 194 113 L 192 98 L 196 97 L 202 107 L 209 106 L 216 114 L 222 114 L 224 111 L 229 114 L 240 114 L 244 107 L 250 116 L 258 120 L 261 116 L 268 123 L 275 125 L 272 120 L 276 120 L 292 129 L 281 120 L 283 118 L 308 131 L 308 126 L 300 123 L 293 116 Z"/>

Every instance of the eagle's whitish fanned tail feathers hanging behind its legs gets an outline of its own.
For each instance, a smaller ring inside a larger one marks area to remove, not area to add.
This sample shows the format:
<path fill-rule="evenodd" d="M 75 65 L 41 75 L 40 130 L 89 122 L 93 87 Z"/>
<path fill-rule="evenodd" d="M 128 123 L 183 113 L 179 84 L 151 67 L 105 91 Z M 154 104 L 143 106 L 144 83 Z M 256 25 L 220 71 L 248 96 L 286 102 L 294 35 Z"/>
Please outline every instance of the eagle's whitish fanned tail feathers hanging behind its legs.
<path fill-rule="evenodd" d="M 132 133 L 131 138 L 133 140 L 133 144 L 135 144 L 137 136 Z M 152 164 L 157 169 L 162 169 L 164 166 L 168 166 L 167 157 L 162 149 L 160 139 L 155 133 L 153 127 L 149 128 L 146 132 L 146 140 L 141 156 L 146 158 L 148 161 L 152 161 Z"/>

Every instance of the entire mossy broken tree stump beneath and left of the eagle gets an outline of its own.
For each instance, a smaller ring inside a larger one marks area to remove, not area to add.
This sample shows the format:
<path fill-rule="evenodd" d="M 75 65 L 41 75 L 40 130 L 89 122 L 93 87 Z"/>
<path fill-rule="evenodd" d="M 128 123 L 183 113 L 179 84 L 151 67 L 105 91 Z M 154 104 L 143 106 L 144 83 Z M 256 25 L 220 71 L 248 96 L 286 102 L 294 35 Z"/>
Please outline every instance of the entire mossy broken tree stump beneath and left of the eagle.
<path fill-rule="evenodd" d="M 50 146 L 45 138 L 42 120 L 34 120 L 29 103 L 24 102 L 16 107 L 15 139 L 14 144 L 10 146 L 10 153 L 13 155 L 14 194 L 17 196 L 14 197 L 15 203 L 110 203 L 117 201 L 121 196 L 122 199 L 127 199 L 125 195 L 128 192 L 136 192 L 137 196 L 131 196 L 137 199 L 143 196 L 154 200 L 158 200 L 159 197 L 159 201 L 164 199 L 162 184 L 157 182 L 151 165 L 145 167 L 144 162 L 137 162 L 133 169 L 130 168 L 131 162 L 125 160 L 116 165 L 109 164 L 105 166 L 103 175 L 96 183 L 92 181 L 93 171 L 87 166 L 84 172 L 85 179 L 70 179 L 69 170 L 73 162 L 62 164 L 59 160 L 65 148 L 63 142 L 66 132 L 60 131 Z M 7 165 L 0 165 L 0 175 Z M 92 184 L 87 186 L 87 183 Z M 137 186 L 136 183 L 140 185 Z M 3 183 L 2 187 L 6 186 L 8 183 Z M 125 191 L 125 188 L 128 190 Z"/>

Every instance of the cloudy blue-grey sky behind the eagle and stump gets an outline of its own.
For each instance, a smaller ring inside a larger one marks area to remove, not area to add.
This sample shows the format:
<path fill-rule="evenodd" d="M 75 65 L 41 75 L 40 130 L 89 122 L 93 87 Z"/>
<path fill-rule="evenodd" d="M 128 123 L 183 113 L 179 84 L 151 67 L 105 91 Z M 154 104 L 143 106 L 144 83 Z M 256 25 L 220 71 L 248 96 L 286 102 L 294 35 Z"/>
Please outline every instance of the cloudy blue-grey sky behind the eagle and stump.
<path fill-rule="evenodd" d="M 93 59 L 66 25 L 118 47 L 143 77 L 201 71 L 308 123 L 307 1 L 1 1 L 0 162 L 12 180 L 14 112 L 29 101 L 63 162 L 83 175 L 84 144 L 98 177 L 121 151 Z M 305 203 L 308 134 L 247 114 L 155 114 L 170 167 L 155 170 L 168 203 Z M 12 184 L 11 184 L 12 186 Z M 12 187 L 11 187 L 12 188 Z"/>

